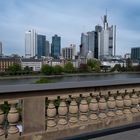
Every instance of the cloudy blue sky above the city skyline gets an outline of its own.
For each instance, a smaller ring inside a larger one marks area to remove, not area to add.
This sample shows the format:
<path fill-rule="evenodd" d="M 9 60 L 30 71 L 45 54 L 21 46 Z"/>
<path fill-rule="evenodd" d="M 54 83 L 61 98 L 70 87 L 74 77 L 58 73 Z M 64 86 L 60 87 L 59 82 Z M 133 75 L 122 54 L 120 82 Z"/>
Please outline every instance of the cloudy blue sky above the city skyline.
<path fill-rule="evenodd" d="M 140 0 L 0 0 L 0 41 L 4 54 L 24 55 L 25 32 L 36 29 L 62 37 L 62 47 L 74 43 L 81 32 L 101 24 L 108 9 L 109 25 L 117 26 L 117 54 L 140 46 Z"/>

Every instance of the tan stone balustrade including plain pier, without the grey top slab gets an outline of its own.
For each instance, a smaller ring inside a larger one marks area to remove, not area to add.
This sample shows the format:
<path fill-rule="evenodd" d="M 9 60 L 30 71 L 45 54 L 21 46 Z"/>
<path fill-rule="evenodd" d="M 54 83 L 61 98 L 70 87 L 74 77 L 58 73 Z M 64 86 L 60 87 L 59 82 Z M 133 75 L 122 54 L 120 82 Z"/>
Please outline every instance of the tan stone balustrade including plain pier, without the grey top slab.
<path fill-rule="evenodd" d="M 139 84 L 36 92 L 6 93 L 1 98 L 0 138 L 83 129 L 88 125 L 94 131 L 131 123 L 140 117 Z M 5 101 L 10 105 L 8 112 L 2 109 Z"/>

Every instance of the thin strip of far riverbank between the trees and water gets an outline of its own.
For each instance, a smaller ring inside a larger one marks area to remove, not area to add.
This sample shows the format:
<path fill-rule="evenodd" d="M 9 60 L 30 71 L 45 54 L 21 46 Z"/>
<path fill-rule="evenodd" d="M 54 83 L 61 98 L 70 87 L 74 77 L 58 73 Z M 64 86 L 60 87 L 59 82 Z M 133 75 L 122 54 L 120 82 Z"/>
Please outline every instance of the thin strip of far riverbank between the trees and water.
<path fill-rule="evenodd" d="M 94 75 L 116 75 L 116 74 L 140 74 L 140 72 L 101 72 L 101 73 L 72 73 L 72 74 L 61 74 L 61 75 L 17 75 L 17 76 L 0 76 L 0 80 L 9 79 L 32 79 L 32 78 L 59 78 L 59 77 L 72 77 L 72 76 L 94 76 Z"/>

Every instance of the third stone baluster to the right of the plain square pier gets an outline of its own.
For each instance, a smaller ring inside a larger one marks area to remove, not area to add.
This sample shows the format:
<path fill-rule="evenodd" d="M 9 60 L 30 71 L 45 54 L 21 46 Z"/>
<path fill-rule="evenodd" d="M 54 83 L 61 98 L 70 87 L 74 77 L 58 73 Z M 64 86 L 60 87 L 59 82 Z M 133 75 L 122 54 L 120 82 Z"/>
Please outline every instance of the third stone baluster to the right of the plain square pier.
<path fill-rule="evenodd" d="M 78 105 L 74 98 L 72 98 L 69 105 L 69 126 L 77 127 L 78 126 Z"/>

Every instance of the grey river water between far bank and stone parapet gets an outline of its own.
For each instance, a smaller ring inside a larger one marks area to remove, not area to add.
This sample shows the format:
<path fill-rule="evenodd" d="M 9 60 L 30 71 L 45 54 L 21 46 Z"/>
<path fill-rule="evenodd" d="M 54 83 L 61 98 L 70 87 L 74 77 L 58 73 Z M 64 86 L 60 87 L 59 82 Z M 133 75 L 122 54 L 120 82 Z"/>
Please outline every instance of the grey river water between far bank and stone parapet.
<path fill-rule="evenodd" d="M 93 80 L 124 80 L 131 78 L 140 78 L 140 73 L 131 74 L 96 74 L 96 75 L 76 75 L 76 76 L 62 76 L 62 77 L 51 77 L 55 82 L 73 82 L 73 81 L 93 81 Z M 24 78 L 24 79 L 4 79 L 0 80 L 0 85 L 16 85 L 16 84 L 33 84 L 39 78 Z"/>

